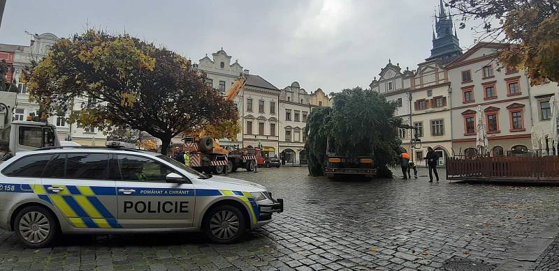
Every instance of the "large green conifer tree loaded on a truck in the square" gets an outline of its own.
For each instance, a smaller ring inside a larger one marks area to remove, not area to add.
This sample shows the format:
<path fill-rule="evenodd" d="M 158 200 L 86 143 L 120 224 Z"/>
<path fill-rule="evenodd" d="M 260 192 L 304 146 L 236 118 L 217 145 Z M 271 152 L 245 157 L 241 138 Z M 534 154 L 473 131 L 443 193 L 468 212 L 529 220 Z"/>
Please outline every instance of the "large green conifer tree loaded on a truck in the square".
<path fill-rule="evenodd" d="M 391 178 L 400 151 L 395 102 L 362 88 L 332 95 L 333 107 L 312 109 L 307 118 L 309 172 L 313 176 Z"/>

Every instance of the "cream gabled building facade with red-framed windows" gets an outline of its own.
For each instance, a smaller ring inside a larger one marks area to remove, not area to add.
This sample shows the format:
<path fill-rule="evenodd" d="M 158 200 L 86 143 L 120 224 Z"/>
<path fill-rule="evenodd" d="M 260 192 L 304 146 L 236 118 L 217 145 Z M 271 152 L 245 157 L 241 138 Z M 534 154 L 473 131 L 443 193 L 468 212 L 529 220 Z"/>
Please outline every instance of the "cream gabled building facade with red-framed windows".
<path fill-rule="evenodd" d="M 451 81 L 453 148 L 477 153 L 476 109 L 484 110 L 489 147 L 494 155 L 531 146 L 530 82 L 523 70 L 501 68 L 500 43 L 481 42 L 447 65 Z"/>

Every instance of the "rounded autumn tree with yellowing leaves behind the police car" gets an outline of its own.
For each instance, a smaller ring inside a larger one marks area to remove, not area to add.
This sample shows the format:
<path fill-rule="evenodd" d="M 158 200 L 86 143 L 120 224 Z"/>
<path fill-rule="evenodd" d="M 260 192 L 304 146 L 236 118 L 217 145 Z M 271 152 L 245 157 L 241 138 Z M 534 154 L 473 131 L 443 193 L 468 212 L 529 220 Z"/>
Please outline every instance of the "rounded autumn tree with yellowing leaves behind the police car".
<path fill-rule="evenodd" d="M 177 134 L 238 119 L 233 102 L 206 86 L 204 77 L 164 47 L 94 30 L 59 40 L 24 71 L 31 99 L 50 114 L 68 111 L 69 101 L 88 100 L 72 111 L 71 122 L 145 131 L 161 140 L 164 154 Z"/>

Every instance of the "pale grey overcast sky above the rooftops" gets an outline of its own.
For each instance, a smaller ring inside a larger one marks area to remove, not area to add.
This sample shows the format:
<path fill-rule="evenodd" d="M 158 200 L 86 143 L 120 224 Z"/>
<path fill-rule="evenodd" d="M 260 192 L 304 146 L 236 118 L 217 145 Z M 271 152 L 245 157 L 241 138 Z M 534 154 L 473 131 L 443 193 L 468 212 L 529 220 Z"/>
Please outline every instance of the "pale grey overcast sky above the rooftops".
<path fill-rule="evenodd" d="M 0 43 L 30 33 L 68 37 L 88 26 L 131 33 L 194 61 L 221 47 L 277 88 L 326 93 L 368 87 L 388 63 L 416 69 L 430 55 L 438 0 L 8 0 Z M 458 18 L 455 18 L 457 22 Z M 458 29 L 471 47 L 469 29 Z"/>

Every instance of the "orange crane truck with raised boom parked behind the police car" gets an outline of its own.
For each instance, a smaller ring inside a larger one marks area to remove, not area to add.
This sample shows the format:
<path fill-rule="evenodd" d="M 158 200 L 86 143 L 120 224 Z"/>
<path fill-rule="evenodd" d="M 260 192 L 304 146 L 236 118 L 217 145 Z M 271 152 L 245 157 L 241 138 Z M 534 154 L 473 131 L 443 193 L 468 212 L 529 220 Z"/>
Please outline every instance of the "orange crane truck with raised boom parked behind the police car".
<path fill-rule="evenodd" d="M 244 75 L 235 80 L 231 88 L 224 96 L 225 100 L 234 100 L 245 85 Z M 205 173 L 222 174 L 237 171 L 238 168 L 245 168 L 247 171 L 254 171 L 257 167 L 257 157 L 252 148 L 223 148 L 217 139 L 205 135 L 202 131 L 195 136 L 184 137 L 184 147 L 182 151 L 190 157 L 189 166 Z M 179 150 L 180 151 L 180 150 Z M 177 152 L 174 150 L 173 152 Z"/>

